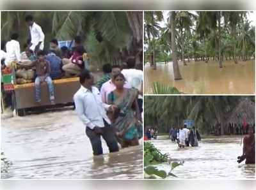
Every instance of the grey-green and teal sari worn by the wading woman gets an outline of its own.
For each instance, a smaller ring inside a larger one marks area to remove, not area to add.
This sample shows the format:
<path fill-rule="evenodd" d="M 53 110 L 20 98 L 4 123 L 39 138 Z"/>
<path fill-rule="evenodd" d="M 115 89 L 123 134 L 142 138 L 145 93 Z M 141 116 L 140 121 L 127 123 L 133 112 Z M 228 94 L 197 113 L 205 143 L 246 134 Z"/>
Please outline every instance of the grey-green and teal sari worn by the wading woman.
<path fill-rule="evenodd" d="M 143 126 L 134 115 L 132 105 L 138 97 L 136 89 L 127 89 L 122 97 L 116 96 L 114 92 L 108 95 L 108 104 L 116 105 L 120 112 L 113 121 L 113 126 L 121 134 L 120 140 L 132 140 L 141 138 L 143 135 Z"/>

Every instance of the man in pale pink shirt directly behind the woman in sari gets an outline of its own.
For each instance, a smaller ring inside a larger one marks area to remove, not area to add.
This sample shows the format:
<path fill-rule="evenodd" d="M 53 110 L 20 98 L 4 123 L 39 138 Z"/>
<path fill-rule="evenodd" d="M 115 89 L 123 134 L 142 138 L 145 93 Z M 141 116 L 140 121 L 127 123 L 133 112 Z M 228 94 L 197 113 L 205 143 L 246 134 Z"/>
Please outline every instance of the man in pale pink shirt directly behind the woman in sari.
<path fill-rule="evenodd" d="M 102 84 L 102 87 L 100 89 L 100 94 L 101 94 L 103 103 L 107 103 L 108 102 L 108 94 L 112 91 L 115 91 L 116 86 L 113 83 L 113 77 L 120 72 L 121 72 L 120 66 L 112 66 L 111 79 L 108 80 L 107 82 L 105 82 L 104 84 Z M 126 81 L 125 81 L 124 87 L 126 89 L 131 89 L 131 85 L 129 83 L 127 83 Z"/>

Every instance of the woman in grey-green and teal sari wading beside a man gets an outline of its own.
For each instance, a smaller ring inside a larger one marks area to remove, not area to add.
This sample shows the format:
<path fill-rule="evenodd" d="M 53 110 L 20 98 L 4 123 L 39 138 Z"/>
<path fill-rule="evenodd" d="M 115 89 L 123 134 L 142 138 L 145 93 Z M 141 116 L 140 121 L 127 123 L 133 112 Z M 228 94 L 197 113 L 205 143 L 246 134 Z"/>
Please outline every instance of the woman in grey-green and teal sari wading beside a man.
<path fill-rule="evenodd" d="M 108 104 L 116 105 L 113 115 L 109 115 L 116 131 L 118 142 L 122 147 L 139 144 L 143 135 L 138 90 L 124 88 L 125 77 L 122 73 L 114 76 L 115 91 L 108 95 Z"/>

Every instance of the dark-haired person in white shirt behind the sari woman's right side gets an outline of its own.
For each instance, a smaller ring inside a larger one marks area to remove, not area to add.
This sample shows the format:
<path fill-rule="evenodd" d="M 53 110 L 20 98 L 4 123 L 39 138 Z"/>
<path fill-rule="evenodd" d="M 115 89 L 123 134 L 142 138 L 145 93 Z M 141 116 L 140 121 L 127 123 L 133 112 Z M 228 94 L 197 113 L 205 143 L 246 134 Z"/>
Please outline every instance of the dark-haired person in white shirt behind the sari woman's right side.
<path fill-rule="evenodd" d="M 135 69 L 136 60 L 134 57 L 127 59 L 127 69 L 123 69 L 121 73 L 124 75 L 127 82 L 134 88 L 138 89 L 139 97 L 138 104 L 140 112 L 142 112 L 143 105 L 143 71 Z"/>

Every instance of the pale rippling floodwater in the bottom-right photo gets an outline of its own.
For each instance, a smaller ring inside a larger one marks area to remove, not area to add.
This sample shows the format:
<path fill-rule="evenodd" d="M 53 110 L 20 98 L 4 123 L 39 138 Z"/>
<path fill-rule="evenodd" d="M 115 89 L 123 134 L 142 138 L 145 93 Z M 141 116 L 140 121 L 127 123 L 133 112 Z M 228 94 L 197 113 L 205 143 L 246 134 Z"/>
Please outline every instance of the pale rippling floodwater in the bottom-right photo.
<path fill-rule="evenodd" d="M 244 164 L 244 161 L 237 163 L 237 156 L 241 156 L 243 152 L 243 144 L 240 145 L 241 136 L 204 138 L 199 142 L 199 147 L 184 149 L 179 149 L 177 143 L 167 138 L 159 136 L 159 139 L 150 142 L 163 154 L 170 154 L 173 161 L 184 161 L 182 166 L 172 171 L 178 179 L 255 178 L 255 164 Z M 158 168 L 170 172 L 170 166 L 167 164 L 160 164 Z"/>

